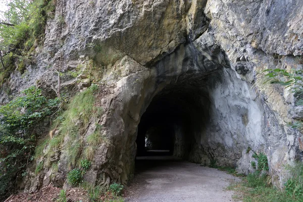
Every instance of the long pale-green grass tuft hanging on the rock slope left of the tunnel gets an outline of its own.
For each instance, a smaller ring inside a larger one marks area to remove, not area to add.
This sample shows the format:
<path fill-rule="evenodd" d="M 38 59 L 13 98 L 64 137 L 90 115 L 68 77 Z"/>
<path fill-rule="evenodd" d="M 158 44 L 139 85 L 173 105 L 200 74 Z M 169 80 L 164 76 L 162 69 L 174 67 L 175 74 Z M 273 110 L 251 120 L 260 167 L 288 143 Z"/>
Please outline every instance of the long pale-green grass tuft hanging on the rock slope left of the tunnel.
<path fill-rule="evenodd" d="M 83 148 L 83 141 L 79 136 L 85 132 L 89 120 L 92 115 L 97 115 L 97 107 L 94 106 L 94 93 L 98 89 L 97 85 L 92 85 L 84 91 L 75 95 L 67 106 L 67 110 L 54 121 L 53 128 L 58 129 L 60 133 L 55 136 L 48 143 L 46 150 L 46 165 L 51 166 L 50 161 L 56 154 L 54 150 L 58 150 L 62 144 L 65 136 L 69 137 L 65 149 L 68 155 L 68 165 L 73 168 L 76 165 L 81 149 Z M 85 158 L 87 159 L 87 158 Z M 90 159 L 87 159 L 90 160 Z"/>

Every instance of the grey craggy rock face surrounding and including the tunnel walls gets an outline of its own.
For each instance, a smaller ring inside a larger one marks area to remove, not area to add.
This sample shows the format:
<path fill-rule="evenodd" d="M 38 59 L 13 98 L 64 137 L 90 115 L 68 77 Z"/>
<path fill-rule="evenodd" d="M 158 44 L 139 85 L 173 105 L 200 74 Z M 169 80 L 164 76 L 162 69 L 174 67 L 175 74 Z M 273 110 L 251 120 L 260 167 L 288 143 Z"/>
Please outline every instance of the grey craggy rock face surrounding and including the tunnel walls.
<path fill-rule="evenodd" d="M 93 184 L 125 184 L 159 119 L 174 134 L 175 156 L 248 173 L 262 152 L 282 185 L 283 165 L 303 155 L 301 133 L 286 123 L 302 113 L 292 93 L 263 84 L 263 70 L 302 68 L 302 19 L 302 4 L 290 0 L 58 0 L 37 65 L 13 75 L 11 88 L 56 82 L 49 64 L 63 73 L 87 59 L 104 67 L 111 93 L 100 98 L 100 122 L 111 144 L 95 152 L 85 177 Z M 62 161 L 52 180 L 62 185 L 68 171 Z M 26 189 L 49 183 L 49 173 Z"/>

